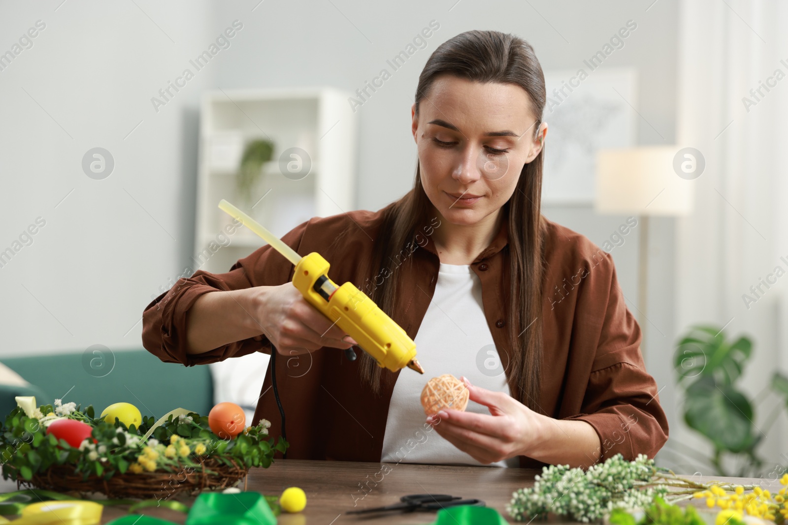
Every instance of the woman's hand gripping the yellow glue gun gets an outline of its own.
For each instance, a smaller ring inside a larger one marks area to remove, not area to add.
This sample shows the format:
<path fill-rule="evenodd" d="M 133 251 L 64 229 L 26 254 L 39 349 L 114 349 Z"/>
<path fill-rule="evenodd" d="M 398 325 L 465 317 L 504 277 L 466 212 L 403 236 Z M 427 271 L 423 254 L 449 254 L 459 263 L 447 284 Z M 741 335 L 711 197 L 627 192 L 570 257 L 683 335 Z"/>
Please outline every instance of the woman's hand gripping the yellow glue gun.
<path fill-rule="evenodd" d="M 279 353 L 298 355 L 322 346 L 347 349 L 359 344 L 310 305 L 292 283 L 251 290 L 255 290 L 252 315 Z"/>

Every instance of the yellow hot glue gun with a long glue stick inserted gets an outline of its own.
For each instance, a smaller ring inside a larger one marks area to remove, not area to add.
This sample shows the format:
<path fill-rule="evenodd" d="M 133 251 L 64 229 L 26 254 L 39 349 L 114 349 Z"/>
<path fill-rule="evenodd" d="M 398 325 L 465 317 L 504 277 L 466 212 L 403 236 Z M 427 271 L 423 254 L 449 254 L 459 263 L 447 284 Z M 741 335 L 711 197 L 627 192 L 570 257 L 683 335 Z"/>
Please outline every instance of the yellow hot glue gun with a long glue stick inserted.
<path fill-rule="evenodd" d="M 362 350 L 377 361 L 378 366 L 392 372 L 407 367 L 420 374 L 424 373 L 416 360 L 416 344 L 413 339 L 353 283 L 348 282 L 337 287 L 329 279 L 329 262 L 320 253 L 312 252 L 301 257 L 296 250 L 225 199 L 221 199 L 219 208 L 254 231 L 295 264 L 293 286 L 310 305 L 354 338 Z"/>

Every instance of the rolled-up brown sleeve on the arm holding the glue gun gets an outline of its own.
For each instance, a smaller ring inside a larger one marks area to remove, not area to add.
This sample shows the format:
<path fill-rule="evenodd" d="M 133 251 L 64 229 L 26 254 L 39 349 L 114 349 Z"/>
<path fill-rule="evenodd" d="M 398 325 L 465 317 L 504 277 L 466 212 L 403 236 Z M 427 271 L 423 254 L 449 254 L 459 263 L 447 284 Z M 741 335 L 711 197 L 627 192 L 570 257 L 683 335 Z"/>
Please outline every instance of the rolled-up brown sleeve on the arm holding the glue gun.
<path fill-rule="evenodd" d="M 282 237 L 284 243 L 298 251 L 308 224 L 306 221 L 289 231 Z M 205 353 L 187 353 L 187 312 L 203 294 L 278 286 L 290 280 L 292 270 L 292 263 L 266 245 L 237 261 L 229 272 L 213 274 L 198 270 L 191 277 L 178 279 L 172 288 L 145 307 L 143 346 L 166 363 L 186 366 L 215 363 L 253 352 L 269 353 L 270 342 L 264 335 L 231 342 Z"/>

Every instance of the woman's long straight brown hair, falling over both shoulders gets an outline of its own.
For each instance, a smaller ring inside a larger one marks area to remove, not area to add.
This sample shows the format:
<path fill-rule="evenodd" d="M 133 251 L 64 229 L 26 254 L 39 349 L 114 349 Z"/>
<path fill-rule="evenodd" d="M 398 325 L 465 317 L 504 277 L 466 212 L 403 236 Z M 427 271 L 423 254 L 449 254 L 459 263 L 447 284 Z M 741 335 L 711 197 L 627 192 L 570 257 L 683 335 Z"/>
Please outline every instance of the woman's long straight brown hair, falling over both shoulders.
<path fill-rule="evenodd" d="M 417 115 L 419 102 L 429 94 L 436 77 L 446 73 L 475 82 L 510 83 L 522 87 L 530 97 L 531 113 L 537 117 L 533 126 L 535 131 L 531 133 L 536 137 L 545 108 L 545 76 L 533 47 L 525 40 L 500 31 L 466 31 L 442 43 L 429 57 L 418 78 Z M 527 136 L 526 139 L 530 140 Z M 506 352 L 509 354 L 507 377 L 510 384 L 519 386 L 512 396 L 539 412 L 543 153 L 544 148 L 533 161 L 523 166 L 515 193 L 502 209 L 507 215 L 509 228 L 508 245 L 504 250 L 508 253 L 510 286 L 504 291 L 511 290 L 507 298 L 507 312 L 513 321 L 506 325 L 512 350 Z M 375 269 L 375 272 L 370 275 L 379 274 L 388 267 L 389 261 L 394 261 L 402 253 L 408 242 L 414 242 L 418 226 L 427 220 L 431 209 L 431 202 L 422 187 L 420 167 L 417 166 L 413 189 L 384 210 L 370 264 L 370 270 Z M 413 257 L 408 257 L 407 264 L 412 260 Z M 372 290 L 371 298 L 389 316 L 400 298 L 400 274 L 399 271 L 391 272 L 381 285 Z M 504 355 L 501 357 L 505 364 Z M 367 353 L 362 353 L 359 364 L 362 382 L 371 386 L 374 392 L 379 392 L 382 369 Z"/>

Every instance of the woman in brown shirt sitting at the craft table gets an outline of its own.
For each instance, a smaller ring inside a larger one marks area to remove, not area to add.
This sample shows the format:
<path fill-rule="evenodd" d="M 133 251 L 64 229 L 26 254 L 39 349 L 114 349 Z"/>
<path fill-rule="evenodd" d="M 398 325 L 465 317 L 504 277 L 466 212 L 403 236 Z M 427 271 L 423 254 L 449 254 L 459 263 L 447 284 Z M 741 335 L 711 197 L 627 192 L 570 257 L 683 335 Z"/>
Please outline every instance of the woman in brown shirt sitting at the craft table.
<path fill-rule="evenodd" d="M 541 216 L 545 80 L 532 47 L 497 31 L 443 43 L 411 109 L 414 188 L 377 212 L 315 217 L 284 235 L 321 253 L 417 344 L 427 376 L 378 368 L 289 282 L 270 246 L 230 272 L 196 272 L 147 306 L 143 344 L 205 364 L 276 360 L 288 457 L 589 467 L 667 440 L 641 331 L 608 253 Z M 421 328 L 421 329 L 420 329 Z M 425 419 L 427 378 L 464 376 L 466 412 Z M 255 420 L 281 432 L 269 372 Z"/>

